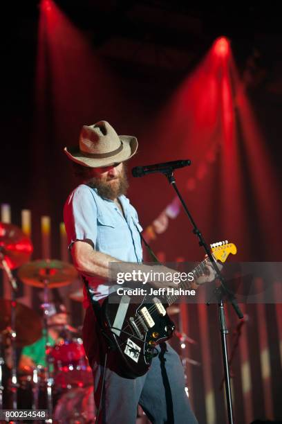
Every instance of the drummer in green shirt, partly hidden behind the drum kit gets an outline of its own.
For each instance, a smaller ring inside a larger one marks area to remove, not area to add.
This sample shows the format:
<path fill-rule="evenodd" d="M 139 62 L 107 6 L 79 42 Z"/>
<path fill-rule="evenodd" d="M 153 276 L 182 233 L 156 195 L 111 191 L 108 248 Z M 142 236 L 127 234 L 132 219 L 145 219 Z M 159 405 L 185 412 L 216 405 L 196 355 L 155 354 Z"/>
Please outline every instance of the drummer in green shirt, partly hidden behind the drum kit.
<path fill-rule="evenodd" d="M 48 307 L 48 345 L 54 346 L 68 326 L 68 312 L 62 303 L 49 303 Z M 24 346 L 19 358 L 19 369 L 24 372 L 31 371 L 35 366 L 46 367 L 46 336 L 29 346 Z"/>

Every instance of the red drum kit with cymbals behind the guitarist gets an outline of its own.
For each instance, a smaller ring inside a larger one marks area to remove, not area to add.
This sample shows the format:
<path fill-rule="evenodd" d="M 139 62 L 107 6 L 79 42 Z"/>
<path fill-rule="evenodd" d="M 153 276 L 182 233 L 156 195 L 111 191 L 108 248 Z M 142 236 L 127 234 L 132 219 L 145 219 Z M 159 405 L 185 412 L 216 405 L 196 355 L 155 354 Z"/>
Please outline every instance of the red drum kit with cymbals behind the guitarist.
<path fill-rule="evenodd" d="M 59 337 L 48 343 L 50 290 L 69 285 L 77 271 L 61 260 L 30 260 L 32 242 L 15 225 L 0 222 L 0 267 L 10 282 L 10 299 L 0 299 L 0 409 L 48 409 L 48 423 L 95 421 L 93 376 L 84 352 L 81 329 L 56 326 Z M 43 319 L 19 303 L 17 280 L 41 288 Z M 46 366 L 17 368 L 19 348 L 46 337 Z M 66 416 L 68 410 L 68 416 Z"/>

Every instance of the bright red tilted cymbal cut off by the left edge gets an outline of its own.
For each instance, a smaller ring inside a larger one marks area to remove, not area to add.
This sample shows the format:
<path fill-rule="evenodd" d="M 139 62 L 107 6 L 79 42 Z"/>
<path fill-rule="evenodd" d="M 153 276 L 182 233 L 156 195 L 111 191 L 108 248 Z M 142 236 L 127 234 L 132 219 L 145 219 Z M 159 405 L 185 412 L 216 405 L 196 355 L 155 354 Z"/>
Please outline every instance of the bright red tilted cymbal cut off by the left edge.
<path fill-rule="evenodd" d="M 10 270 L 26 263 L 32 250 L 30 238 L 19 227 L 0 222 L 0 252 Z"/>

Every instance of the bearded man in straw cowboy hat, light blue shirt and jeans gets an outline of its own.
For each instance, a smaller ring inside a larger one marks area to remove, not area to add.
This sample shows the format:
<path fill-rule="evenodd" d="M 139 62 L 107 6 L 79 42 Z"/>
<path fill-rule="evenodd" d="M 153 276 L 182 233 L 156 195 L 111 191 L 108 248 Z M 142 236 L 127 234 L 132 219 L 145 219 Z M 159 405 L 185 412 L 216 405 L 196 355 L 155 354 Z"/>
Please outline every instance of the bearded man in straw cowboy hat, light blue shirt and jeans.
<path fill-rule="evenodd" d="M 64 222 L 77 270 L 86 279 L 93 301 L 109 294 L 109 264 L 142 264 L 138 215 L 126 198 L 128 182 L 124 162 L 137 151 L 134 136 L 118 136 L 106 121 L 82 127 L 79 146 L 65 148 L 82 184 L 68 196 Z M 128 265 L 130 267 L 130 265 Z M 138 265 L 146 267 L 147 265 Z M 144 268 L 145 269 L 145 268 Z M 209 269 L 209 281 L 214 279 Z M 175 287 L 155 282 L 155 287 Z M 156 347 L 149 371 L 125 378 L 117 368 L 118 357 L 109 353 L 97 317 L 84 290 L 84 348 L 93 369 L 98 423 L 134 424 L 138 403 L 152 423 L 194 424 L 185 393 L 185 378 L 178 354 L 169 344 Z"/>

